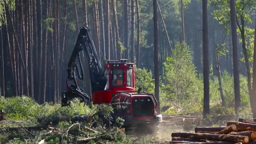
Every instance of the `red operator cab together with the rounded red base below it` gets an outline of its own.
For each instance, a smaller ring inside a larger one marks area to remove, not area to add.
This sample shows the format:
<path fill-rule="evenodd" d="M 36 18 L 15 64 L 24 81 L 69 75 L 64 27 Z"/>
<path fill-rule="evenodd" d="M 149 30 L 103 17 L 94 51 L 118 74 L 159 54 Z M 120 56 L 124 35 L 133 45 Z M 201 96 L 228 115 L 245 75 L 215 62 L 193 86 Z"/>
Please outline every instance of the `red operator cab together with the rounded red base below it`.
<path fill-rule="evenodd" d="M 134 65 L 127 59 L 106 60 L 104 75 L 107 77 L 107 84 L 104 91 L 92 93 L 93 103 L 109 103 L 117 91 L 135 91 Z"/>

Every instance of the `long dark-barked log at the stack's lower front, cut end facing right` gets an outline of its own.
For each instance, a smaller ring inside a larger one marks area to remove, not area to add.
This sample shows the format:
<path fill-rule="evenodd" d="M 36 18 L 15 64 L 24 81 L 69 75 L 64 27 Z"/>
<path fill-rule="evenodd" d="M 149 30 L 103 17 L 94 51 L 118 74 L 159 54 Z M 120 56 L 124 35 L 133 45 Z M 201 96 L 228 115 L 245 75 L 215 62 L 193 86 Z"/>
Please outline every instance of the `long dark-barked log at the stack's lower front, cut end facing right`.
<path fill-rule="evenodd" d="M 218 135 L 208 133 L 172 133 L 172 137 L 192 138 L 192 139 L 206 139 L 211 141 L 230 141 L 248 143 L 248 136 L 232 136 L 232 135 Z"/>

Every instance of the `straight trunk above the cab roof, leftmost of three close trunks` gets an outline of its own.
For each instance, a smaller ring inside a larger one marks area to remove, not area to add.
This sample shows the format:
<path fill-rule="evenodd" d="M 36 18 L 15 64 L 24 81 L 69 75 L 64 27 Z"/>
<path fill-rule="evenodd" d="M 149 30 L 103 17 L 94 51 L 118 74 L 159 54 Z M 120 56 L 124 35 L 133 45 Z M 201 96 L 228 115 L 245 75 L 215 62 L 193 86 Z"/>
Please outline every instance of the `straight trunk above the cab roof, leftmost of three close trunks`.
<path fill-rule="evenodd" d="M 128 0 L 124 0 L 124 46 L 125 50 L 125 59 L 129 59 L 129 5 Z"/>

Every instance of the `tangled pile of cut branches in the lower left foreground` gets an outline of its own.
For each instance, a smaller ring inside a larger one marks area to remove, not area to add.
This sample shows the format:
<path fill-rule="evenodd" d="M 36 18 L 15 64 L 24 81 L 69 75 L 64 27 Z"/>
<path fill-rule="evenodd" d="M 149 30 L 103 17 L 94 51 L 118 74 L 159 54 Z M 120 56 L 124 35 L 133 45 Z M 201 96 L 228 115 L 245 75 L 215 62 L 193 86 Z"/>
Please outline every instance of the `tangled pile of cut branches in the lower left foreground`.
<path fill-rule="evenodd" d="M 63 111 L 66 112 L 66 111 Z M 1 143 L 98 143 L 125 141 L 125 130 L 121 128 L 123 119 L 113 117 L 111 105 L 97 105 L 86 116 L 64 115 L 53 112 L 37 119 L 37 124 L 18 123 L 15 126 L 2 121 Z M 60 117 L 61 116 L 61 117 Z M 64 117 L 63 117 L 64 116 Z M 5 125 L 5 127 L 3 127 Z M 7 126 L 8 125 L 8 126 Z M 18 125 L 18 126 L 17 126 Z"/>

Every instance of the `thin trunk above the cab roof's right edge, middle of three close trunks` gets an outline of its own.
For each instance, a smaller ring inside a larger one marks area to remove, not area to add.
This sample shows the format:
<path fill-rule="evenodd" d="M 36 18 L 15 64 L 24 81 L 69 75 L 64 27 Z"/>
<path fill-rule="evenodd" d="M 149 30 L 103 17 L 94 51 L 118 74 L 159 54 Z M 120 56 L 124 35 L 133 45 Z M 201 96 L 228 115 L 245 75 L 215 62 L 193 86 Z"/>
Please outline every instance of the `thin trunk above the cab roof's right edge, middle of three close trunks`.
<path fill-rule="evenodd" d="M 134 0 L 131 0 L 131 61 L 134 62 Z"/>

